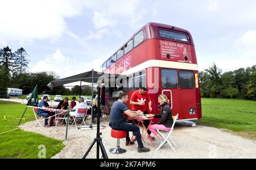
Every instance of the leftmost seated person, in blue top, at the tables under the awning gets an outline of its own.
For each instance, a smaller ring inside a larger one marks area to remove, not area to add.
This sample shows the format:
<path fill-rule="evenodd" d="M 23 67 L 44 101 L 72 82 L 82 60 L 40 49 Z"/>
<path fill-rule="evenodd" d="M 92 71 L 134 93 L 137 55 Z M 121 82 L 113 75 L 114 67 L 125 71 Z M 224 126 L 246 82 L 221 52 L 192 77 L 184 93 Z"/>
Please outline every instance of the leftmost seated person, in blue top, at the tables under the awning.
<path fill-rule="evenodd" d="M 38 104 L 38 107 L 39 108 L 52 108 L 51 106 L 49 106 L 47 101 L 48 101 L 48 97 L 43 96 L 43 100 L 40 101 L 40 103 Z M 43 109 L 38 109 L 37 113 L 38 113 L 38 116 L 43 116 L 44 117 L 44 127 L 49 128 L 50 125 L 48 124 L 48 117 L 51 115 L 51 114 L 49 114 L 49 111 L 45 111 Z"/>

